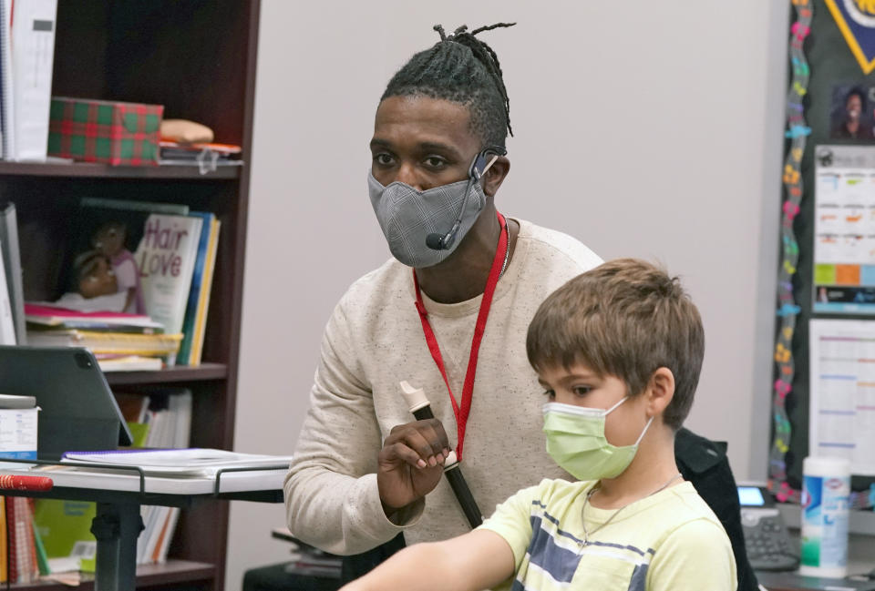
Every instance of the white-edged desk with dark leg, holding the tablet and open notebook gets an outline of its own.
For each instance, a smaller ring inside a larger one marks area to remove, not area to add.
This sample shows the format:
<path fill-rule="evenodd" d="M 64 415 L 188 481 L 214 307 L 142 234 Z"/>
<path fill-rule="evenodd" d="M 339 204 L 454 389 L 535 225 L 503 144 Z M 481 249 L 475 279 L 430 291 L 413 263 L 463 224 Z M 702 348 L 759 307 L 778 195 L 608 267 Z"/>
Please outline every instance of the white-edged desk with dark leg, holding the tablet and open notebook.
<path fill-rule="evenodd" d="M 90 501 L 97 503 L 91 533 L 98 540 L 97 591 L 129 591 L 136 588 L 137 538 L 143 529 L 139 516 L 142 504 L 188 507 L 199 499 L 283 502 L 283 478 L 288 462 L 259 468 L 219 470 L 212 476 L 159 477 L 139 468 L 97 468 L 82 464 L 28 466 L 9 469 L 5 474 L 49 476 L 55 487 L 47 492 L 0 490 L 0 494 L 35 498 Z"/>

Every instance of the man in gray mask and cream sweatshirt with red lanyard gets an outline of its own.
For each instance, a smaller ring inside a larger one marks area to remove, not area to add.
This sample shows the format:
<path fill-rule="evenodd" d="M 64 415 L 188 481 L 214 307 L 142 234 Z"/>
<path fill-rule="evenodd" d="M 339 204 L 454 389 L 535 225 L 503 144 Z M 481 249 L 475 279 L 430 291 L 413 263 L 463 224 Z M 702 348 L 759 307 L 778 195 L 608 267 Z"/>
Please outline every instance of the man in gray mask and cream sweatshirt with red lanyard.
<path fill-rule="evenodd" d="M 482 30 L 438 29 L 438 44 L 397 72 L 377 107 L 368 190 L 395 259 L 357 280 L 328 321 L 284 486 L 293 534 L 328 552 L 360 553 L 402 531 L 408 541 L 468 531 L 442 478 L 449 449 L 486 515 L 520 486 L 562 474 L 544 450 L 526 328 L 552 290 L 601 260 L 497 213 L 509 100 Z M 438 420 L 414 421 L 401 381 L 426 392 Z"/>

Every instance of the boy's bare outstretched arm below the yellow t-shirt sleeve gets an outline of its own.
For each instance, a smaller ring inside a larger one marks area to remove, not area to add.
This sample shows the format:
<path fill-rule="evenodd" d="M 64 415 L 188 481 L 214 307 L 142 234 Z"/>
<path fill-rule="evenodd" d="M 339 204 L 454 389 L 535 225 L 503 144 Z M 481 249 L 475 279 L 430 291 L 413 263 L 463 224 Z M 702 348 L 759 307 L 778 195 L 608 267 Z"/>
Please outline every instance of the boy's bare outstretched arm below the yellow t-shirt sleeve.
<path fill-rule="evenodd" d="M 514 571 L 513 551 L 485 529 L 431 544 L 411 545 L 341 591 L 478 591 Z"/>

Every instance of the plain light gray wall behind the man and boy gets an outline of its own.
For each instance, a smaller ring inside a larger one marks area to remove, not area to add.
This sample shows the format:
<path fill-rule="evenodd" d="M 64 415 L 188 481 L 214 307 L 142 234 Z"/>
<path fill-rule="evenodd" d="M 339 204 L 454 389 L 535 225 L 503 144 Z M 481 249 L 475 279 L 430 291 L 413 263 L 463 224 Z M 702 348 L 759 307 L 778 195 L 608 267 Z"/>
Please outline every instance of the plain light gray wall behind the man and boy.
<path fill-rule="evenodd" d="M 236 448 L 290 453 L 324 322 L 388 256 L 365 192 L 377 100 L 452 29 L 499 54 L 517 133 L 499 209 L 684 277 L 707 351 L 693 413 L 766 474 L 786 0 L 263 0 Z M 232 504 L 229 589 L 279 562 L 281 505 Z"/>

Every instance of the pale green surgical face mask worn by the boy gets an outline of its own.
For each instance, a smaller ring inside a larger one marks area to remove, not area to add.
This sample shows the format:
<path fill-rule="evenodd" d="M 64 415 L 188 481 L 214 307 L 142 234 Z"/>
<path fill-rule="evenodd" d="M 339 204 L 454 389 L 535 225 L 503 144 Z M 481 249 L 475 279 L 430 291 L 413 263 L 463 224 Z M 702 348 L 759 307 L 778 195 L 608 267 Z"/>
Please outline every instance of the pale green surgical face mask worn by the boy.
<path fill-rule="evenodd" d="M 547 453 L 553 461 L 578 480 L 599 480 L 623 474 L 623 470 L 632 464 L 638 443 L 654 421 L 654 417 L 650 417 L 638 441 L 632 445 L 608 443 L 604 437 L 604 419 L 626 402 L 626 398 L 607 410 L 560 402 L 544 404 Z"/>

